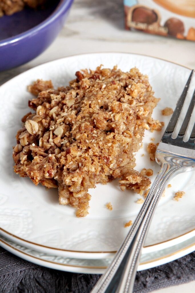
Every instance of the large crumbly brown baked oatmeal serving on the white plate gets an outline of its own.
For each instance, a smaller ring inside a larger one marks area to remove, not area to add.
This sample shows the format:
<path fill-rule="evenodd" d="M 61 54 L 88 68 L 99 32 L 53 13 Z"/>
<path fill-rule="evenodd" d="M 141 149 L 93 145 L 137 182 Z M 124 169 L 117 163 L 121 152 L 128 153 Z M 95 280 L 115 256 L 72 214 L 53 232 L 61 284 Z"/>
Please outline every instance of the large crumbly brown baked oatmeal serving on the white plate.
<path fill-rule="evenodd" d="M 147 76 L 100 66 L 77 71 L 66 87 L 37 80 L 28 89 L 36 97 L 16 135 L 15 173 L 58 188 L 59 203 L 75 207 L 77 217 L 88 214 L 96 183 L 120 178 L 121 190 L 149 188 L 150 179 L 134 170 L 134 154 L 144 130 L 163 123 L 151 118 L 158 99 Z"/>

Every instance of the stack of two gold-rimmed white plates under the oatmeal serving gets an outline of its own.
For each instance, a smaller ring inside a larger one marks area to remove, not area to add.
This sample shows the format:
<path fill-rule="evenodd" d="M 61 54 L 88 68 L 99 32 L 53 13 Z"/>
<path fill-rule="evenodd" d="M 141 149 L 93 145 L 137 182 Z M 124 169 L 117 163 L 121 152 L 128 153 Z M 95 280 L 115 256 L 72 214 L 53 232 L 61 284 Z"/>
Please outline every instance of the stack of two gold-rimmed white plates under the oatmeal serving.
<path fill-rule="evenodd" d="M 168 123 L 170 117 L 162 116 L 165 107 L 174 109 L 190 69 L 164 60 L 136 54 L 96 53 L 66 57 L 52 61 L 8 81 L 0 87 L 1 115 L 1 193 L 0 193 L 0 245 L 21 258 L 58 270 L 82 273 L 104 272 L 111 262 L 141 207 L 139 195 L 122 192 L 117 180 L 107 185 L 98 184 L 90 190 L 89 215 L 77 218 L 69 206 L 58 204 L 57 190 L 35 187 L 30 179 L 19 178 L 13 172 L 12 146 L 15 133 L 20 128 L 20 117 L 29 112 L 28 99 L 32 98 L 26 87 L 36 79 L 51 79 L 55 87 L 67 85 L 77 70 L 95 69 L 103 64 L 127 71 L 136 66 L 149 76 L 155 96 L 161 100 L 153 117 Z M 185 111 L 185 109 L 184 109 Z M 163 132 L 163 130 L 162 130 Z M 136 169 L 151 168 L 153 178 L 159 170 L 147 154 L 151 139 L 157 143 L 161 132 L 145 133 L 143 147 L 136 155 Z M 144 156 L 143 156 L 144 154 Z M 176 176 L 172 187 L 165 189 L 142 250 L 139 270 L 167 263 L 195 249 L 195 173 Z M 178 202 L 175 192 L 185 191 Z M 113 210 L 106 209 L 111 202 Z"/>

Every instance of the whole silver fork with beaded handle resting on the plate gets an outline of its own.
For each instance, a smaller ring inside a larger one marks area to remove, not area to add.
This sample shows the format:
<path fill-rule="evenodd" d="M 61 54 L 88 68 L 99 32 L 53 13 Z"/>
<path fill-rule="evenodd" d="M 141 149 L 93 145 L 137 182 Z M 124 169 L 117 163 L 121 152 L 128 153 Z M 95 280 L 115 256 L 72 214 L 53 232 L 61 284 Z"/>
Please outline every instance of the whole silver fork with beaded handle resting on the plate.
<path fill-rule="evenodd" d="M 131 293 L 146 233 L 165 184 L 178 173 L 195 170 L 195 124 L 188 142 L 184 142 L 195 104 L 195 91 L 176 139 L 172 135 L 182 112 L 193 76 L 193 70 L 177 102 L 175 111 L 156 149 L 156 161 L 161 165 L 150 192 L 132 225 L 125 241 L 118 249 L 111 265 L 101 276 L 91 293 Z"/>

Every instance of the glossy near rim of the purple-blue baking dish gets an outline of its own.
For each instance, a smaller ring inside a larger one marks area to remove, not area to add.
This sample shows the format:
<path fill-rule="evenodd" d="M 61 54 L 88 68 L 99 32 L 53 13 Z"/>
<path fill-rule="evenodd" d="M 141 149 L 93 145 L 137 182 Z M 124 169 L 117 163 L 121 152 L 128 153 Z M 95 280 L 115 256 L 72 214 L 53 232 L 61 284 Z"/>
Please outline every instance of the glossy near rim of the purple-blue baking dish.
<path fill-rule="evenodd" d="M 58 18 L 61 15 L 61 13 L 66 12 L 68 8 L 70 8 L 72 2 L 73 0 L 61 0 L 56 9 L 54 10 L 54 12 L 51 13 L 51 15 L 48 18 L 46 18 L 40 24 L 31 28 L 30 30 L 26 30 L 24 33 L 0 41 L 0 47 L 14 42 L 18 42 L 19 40 L 28 37 L 32 33 L 37 33 L 39 30 L 42 30 L 44 27 L 55 21 L 55 19 Z"/>

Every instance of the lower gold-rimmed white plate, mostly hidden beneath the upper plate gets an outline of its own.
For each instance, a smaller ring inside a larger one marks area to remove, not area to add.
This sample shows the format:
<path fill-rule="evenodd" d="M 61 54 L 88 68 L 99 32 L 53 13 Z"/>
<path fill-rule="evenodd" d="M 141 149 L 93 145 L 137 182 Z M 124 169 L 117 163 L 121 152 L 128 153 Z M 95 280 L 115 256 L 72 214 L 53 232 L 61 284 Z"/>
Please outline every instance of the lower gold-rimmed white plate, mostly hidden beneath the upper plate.
<path fill-rule="evenodd" d="M 3 236 L 0 237 L 0 246 L 19 256 L 20 258 L 37 265 L 67 272 L 102 274 L 112 260 L 111 257 L 103 259 L 79 259 L 63 257 L 56 255 L 55 253 L 43 253 L 17 244 Z M 146 270 L 158 265 L 163 265 L 172 260 L 187 255 L 188 253 L 194 251 L 194 249 L 195 236 L 184 242 L 178 243 L 175 246 L 171 246 L 156 252 L 144 254 L 142 251 L 138 270 Z"/>

